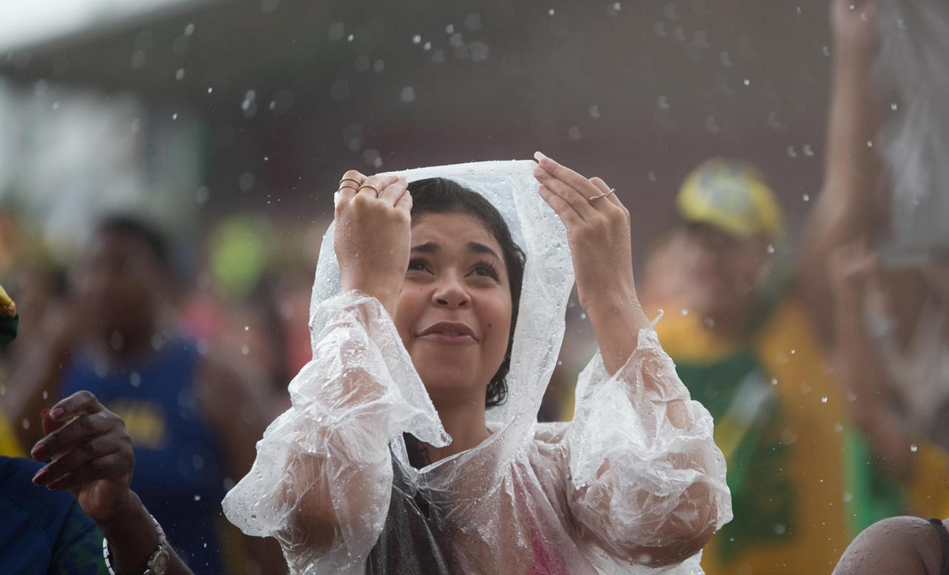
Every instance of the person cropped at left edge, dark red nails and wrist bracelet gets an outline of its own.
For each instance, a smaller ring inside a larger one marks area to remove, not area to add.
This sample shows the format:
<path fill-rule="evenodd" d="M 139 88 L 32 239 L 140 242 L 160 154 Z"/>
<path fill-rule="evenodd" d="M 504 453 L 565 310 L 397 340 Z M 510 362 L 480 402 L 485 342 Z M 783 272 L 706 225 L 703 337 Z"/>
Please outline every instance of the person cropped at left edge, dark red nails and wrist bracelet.
<path fill-rule="evenodd" d="M 18 323 L 0 287 L 0 348 L 16 338 Z M 0 571 L 190 574 L 129 489 L 135 454 L 121 417 L 80 392 L 41 418 L 45 436 L 31 454 L 53 461 L 9 456 L 7 447 L 0 453 Z M 0 427 L 0 445 L 8 439 Z"/>

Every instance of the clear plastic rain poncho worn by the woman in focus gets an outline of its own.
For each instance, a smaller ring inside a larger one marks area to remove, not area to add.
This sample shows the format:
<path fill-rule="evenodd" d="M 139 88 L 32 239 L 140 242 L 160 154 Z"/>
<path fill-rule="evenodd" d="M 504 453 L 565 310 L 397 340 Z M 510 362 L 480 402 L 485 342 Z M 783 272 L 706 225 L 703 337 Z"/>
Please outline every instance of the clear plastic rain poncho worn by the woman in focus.
<path fill-rule="evenodd" d="M 484 195 L 527 253 L 509 396 L 488 411 L 492 435 L 422 469 L 409 464 L 403 434 L 434 446 L 451 438 L 378 300 L 339 293 L 333 226 L 326 232 L 313 359 L 223 504 L 245 533 L 278 539 L 293 573 L 701 573 L 699 534 L 732 517 L 725 460 L 712 417 L 689 399 L 651 327 L 616 374 L 599 353 L 589 362 L 571 422 L 537 422 L 573 273 L 567 232 L 538 195 L 534 166 L 399 173 Z M 684 402 L 681 429 L 667 417 L 672 401 Z M 312 501 L 322 511 L 307 514 Z M 325 529 L 314 534 L 307 522 L 317 520 Z M 679 558 L 656 566 L 658 548 Z"/>

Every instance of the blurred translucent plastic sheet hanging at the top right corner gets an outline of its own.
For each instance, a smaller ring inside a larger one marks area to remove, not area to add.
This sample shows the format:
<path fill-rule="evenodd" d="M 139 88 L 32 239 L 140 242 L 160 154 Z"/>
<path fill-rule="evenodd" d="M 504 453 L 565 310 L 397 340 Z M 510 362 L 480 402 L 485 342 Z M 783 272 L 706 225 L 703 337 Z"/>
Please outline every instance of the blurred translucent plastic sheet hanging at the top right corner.
<path fill-rule="evenodd" d="M 949 3 L 884 0 L 879 9 L 879 147 L 892 185 L 884 256 L 912 264 L 949 250 Z"/>

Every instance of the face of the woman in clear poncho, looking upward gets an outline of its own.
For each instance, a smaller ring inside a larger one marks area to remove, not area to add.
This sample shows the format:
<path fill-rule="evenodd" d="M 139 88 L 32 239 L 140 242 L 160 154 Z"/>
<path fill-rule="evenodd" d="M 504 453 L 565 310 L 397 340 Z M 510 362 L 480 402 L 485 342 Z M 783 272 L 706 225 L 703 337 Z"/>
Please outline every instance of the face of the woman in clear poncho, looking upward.
<path fill-rule="evenodd" d="M 501 246 L 481 220 L 461 213 L 413 220 L 396 326 L 436 405 L 483 406 L 508 349 L 511 312 Z"/>

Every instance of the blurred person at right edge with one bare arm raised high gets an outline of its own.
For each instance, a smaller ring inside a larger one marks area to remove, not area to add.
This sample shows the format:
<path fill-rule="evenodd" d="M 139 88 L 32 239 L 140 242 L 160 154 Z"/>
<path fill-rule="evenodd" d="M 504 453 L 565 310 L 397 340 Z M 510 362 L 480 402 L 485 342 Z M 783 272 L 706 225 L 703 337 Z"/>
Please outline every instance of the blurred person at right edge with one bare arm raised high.
<path fill-rule="evenodd" d="M 812 320 L 861 434 L 848 458 L 871 459 L 873 509 L 863 524 L 909 510 L 945 516 L 949 496 L 949 262 L 942 247 L 885 248 L 891 189 L 879 147 L 873 78 L 882 6 L 838 2 L 828 173 L 806 248 Z M 921 169 L 924 169 L 921 166 Z M 828 250 L 824 247 L 833 248 Z M 821 273 L 821 272 L 824 273 Z M 925 486 L 907 490 L 906 485 Z"/>

